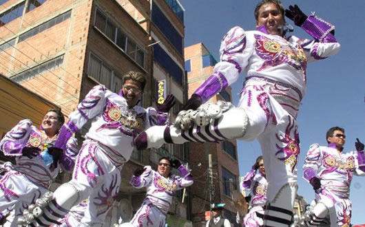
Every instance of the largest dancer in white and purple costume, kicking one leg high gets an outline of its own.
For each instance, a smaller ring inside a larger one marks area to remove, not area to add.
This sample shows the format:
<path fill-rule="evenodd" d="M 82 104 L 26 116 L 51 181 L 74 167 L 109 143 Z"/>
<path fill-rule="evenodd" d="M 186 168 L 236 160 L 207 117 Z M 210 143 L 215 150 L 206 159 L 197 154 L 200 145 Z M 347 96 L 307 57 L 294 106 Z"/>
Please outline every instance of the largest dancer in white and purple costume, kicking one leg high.
<path fill-rule="evenodd" d="M 264 223 L 288 226 L 293 215 L 297 188 L 299 135 L 296 124 L 300 102 L 306 91 L 306 65 L 340 50 L 334 26 L 313 15 L 307 17 L 298 6 L 285 14 L 313 40 L 286 36 L 291 26 L 284 21 L 278 0 L 261 1 L 255 10 L 257 30 L 235 27 L 222 39 L 220 63 L 195 91 L 184 109 L 197 109 L 213 95 L 247 74 L 238 107 L 203 105 L 192 114 L 180 112 L 176 126 L 152 127 L 135 140 L 138 149 L 187 141 L 258 139 L 264 155 L 269 188 Z M 225 112 L 220 114 L 220 108 Z M 227 110 L 229 109 L 229 110 Z M 195 118 L 190 129 L 186 116 Z M 213 116 L 207 119 L 207 116 Z M 208 122 L 208 125 L 205 123 Z M 205 125 L 205 127 L 202 127 Z M 185 130 L 180 130 L 185 129 Z"/>

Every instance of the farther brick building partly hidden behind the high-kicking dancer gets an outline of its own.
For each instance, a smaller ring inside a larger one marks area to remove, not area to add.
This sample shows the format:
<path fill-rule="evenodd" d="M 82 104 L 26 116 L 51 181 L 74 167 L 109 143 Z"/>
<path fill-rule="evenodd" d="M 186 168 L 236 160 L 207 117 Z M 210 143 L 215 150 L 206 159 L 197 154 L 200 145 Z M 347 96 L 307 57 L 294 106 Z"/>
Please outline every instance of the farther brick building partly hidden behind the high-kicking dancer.
<path fill-rule="evenodd" d="M 185 69 L 189 84 L 188 94 L 191 94 L 213 74 L 213 66 L 216 59 L 202 43 L 185 47 Z M 208 102 L 225 100 L 231 102 L 231 88 L 213 96 Z M 213 161 L 213 185 L 208 180 L 208 155 L 212 155 Z M 189 156 L 194 178 L 194 184 L 190 187 L 192 220 L 194 226 L 205 226 L 205 211 L 209 210 L 210 193 L 213 195 L 213 203 L 225 203 L 224 216 L 230 219 L 232 226 L 236 224 L 236 207 L 233 206 L 231 193 L 240 191 L 238 177 L 237 143 L 236 140 L 219 143 L 189 143 Z M 200 164 L 199 164 L 200 163 Z M 229 180 L 233 184 L 230 185 Z"/>

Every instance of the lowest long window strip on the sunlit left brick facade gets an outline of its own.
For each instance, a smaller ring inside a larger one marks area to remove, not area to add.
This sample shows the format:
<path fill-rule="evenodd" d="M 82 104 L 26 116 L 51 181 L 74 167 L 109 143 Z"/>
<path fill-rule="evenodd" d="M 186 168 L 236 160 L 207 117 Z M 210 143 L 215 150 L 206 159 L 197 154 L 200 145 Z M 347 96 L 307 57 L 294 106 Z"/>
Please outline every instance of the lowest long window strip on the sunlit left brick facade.
<path fill-rule="evenodd" d="M 54 58 L 50 61 L 37 65 L 36 67 L 32 67 L 31 69 L 27 69 L 20 74 L 12 76 L 11 79 L 16 83 L 21 83 L 25 80 L 30 80 L 35 76 L 45 74 L 46 72 L 50 72 L 58 67 L 61 67 L 63 63 L 63 55 L 57 58 Z"/>

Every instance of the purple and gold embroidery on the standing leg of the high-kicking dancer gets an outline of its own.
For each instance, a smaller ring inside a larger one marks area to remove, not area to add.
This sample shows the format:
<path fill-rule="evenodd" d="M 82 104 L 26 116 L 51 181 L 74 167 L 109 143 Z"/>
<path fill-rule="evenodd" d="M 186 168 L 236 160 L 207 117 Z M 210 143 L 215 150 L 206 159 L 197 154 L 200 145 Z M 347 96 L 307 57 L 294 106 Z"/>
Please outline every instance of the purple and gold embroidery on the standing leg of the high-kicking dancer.
<path fill-rule="evenodd" d="M 276 147 L 280 150 L 276 152 L 275 155 L 278 160 L 281 160 L 284 162 L 284 164 L 289 165 L 291 167 L 291 171 L 293 172 L 297 166 L 298 155 L 300 153 L 299 134 L 297 132 L 297 127 L 295 127 L 293 118 L 291 118 L 291 116 L 288 116 L 288 118 L 289 123 L 288 126 L 286 126 L 285 135 L 280 138 L 278 133 L 276 134 L 276 138 L 278 138 L 278 140 L 283 143 L 284 147 L 280 147 L 278 144 L 276 144 Z M 294 139 L 291 138 L 292 129 L 294 129 Z"/>

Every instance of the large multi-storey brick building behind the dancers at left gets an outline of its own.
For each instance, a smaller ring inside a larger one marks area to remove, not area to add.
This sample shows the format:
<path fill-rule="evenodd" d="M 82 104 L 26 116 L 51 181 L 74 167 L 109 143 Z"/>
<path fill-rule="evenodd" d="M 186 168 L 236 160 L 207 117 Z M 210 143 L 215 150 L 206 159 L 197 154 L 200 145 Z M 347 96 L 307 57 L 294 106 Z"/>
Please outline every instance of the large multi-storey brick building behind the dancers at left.
<path fill-rule="evenodd" d="M 139 105 L 174 94 L 173 119 L 187 98 L 183 14 L 178 0 L 0 0 L 0 73 L 67 116 L 94 85 L 118 92 L 123 74 L 143 72 L 147 85 Z M 87 125 L 76 136 L 85 131 Z M 129 177 L 137 166 L 155 167 L 161 155 L 188 162 L 186 145 L 134 152 L 123 168 L 114 214 L 127 220 L 139 208 L 145 191 L 129 186 Z M 179 201 L 169 220 L 182 223 L 189 206 Z"/>

